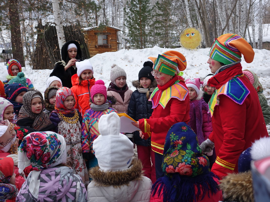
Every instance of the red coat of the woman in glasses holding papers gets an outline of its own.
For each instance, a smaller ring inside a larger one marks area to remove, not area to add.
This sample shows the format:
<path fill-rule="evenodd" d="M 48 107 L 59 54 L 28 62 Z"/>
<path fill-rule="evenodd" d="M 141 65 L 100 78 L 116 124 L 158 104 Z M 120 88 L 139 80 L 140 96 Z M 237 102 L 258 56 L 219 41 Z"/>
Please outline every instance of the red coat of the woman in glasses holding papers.
<path fill-rule="evenodd" d="M 184 81 L 179 83 L 184 87 L 183 90 L 187 89 Z M 186 91 L 188 92 L 188 90 Z M 186 96 L 182 101 L 170 97 L 164 109 L 161 104 L 158 104 L 149 119 L 139 120 L 140 130 L 144 133 L 144 138 L 147 139 L 151 136 L 151 148 L 154 152 L 163 155 L 168 130 L 175 123 L 188 123 L 190 121 L 189 108 L 189 96 Z"/>

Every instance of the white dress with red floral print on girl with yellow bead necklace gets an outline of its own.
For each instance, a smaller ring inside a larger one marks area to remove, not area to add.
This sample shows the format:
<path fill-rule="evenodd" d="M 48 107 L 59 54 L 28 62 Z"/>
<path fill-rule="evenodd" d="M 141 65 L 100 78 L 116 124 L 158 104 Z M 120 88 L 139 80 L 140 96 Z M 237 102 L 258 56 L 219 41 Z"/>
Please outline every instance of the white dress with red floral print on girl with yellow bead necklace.
<path fill-rule="evenodd" d="M 85 188 L 89 184 L 89 176 L 85 160 L 82 155 L 82 128 L 80 122 L 75 124 L 68 123 L 64 120 L 58 124 L 58 134 L 62 135 L 66 141 L 67 164 L 72 167 L 73 173 L 82 178 Z"/>

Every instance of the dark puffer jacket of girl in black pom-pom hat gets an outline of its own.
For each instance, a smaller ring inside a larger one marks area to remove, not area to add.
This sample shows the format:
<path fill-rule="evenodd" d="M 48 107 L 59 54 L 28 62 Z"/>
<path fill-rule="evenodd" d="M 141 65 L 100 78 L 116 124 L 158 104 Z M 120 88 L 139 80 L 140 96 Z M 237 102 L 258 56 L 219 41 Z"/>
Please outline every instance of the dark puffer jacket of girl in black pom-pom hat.
<path fill-rule="evenodd" d="M 138 80 L 133 81 L 132 85 L 137 89 L 140 88 L 140 82 Z M 151 83 L 150 88 L 154 90 L 156 87 L 157 82 L 156 80 L 154 80 Z M 150 90 L 150 95 L 152 92 L 153 91 Z M 131 95 L 127 113 L 132 119 L 136 121 L 138 121 L 139 119 L 149 119 L 153 112 L 152 107 L 152 102 L 147 100 L 146 93 L 140 93 L 138 90 L 135 90 Z M 151 145 L 151 138 L 148 138 L 147 140 L 141 139 L 139 131 L 135 131 L 133 135 L 135 144 L 143 146 Z"/>

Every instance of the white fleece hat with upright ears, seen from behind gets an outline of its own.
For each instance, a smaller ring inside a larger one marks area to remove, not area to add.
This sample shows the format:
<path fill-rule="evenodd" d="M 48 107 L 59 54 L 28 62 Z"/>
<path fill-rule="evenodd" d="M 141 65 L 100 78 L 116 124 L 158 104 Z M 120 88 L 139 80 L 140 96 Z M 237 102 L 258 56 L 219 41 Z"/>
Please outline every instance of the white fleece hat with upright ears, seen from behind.
<path fill-rule="evenodd" d="M 133 143 L 120 133 L 120 117 L 115 113 L 100 117 L 100 135 L 93 141 L 93 150 L 100 169 L 123 170 L 130 166 L 134 155 Z"/>

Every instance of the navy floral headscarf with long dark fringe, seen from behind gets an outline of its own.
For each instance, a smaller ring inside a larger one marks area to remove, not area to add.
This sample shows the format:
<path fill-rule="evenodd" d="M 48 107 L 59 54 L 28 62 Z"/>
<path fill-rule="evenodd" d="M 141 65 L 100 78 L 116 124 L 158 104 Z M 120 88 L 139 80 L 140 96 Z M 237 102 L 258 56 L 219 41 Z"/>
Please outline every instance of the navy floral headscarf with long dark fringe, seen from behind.
<path fill-rule="evenodd" d="M 163 190 L 164 201 L 189 202 L 202 200 L 208 190 L 217 193 L 218 184 L 213 177 L 218 177 L 210 172 L 209 160 L 199 147 L 197 135 L 186 123 L 176 123 L 170 128 L 163 156 L 161 166 L 165 176 L 154 183 L 153 194 L 160 195 Z M 201 192 L 204 194 L 198 198 Z"/>

